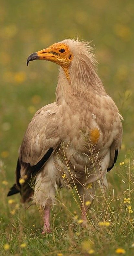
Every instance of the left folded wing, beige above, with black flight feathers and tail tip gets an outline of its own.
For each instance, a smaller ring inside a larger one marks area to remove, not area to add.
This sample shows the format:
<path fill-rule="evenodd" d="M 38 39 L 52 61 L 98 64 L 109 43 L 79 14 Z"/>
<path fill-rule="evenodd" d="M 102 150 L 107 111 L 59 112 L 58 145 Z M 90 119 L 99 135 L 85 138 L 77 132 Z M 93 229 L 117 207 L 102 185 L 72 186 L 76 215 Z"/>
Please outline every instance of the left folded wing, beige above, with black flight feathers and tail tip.
<path fill-rule="evenodd" d="M 8 196 L 17 193 L 17 190 L 21 193 L 23 202 L 31 196 L 31 179 L 34 179 L 60 143 L 58 121 L 55 102 L 36 112 L 24 135 L 17 161 L 16 184 L 10 189 Z"/>

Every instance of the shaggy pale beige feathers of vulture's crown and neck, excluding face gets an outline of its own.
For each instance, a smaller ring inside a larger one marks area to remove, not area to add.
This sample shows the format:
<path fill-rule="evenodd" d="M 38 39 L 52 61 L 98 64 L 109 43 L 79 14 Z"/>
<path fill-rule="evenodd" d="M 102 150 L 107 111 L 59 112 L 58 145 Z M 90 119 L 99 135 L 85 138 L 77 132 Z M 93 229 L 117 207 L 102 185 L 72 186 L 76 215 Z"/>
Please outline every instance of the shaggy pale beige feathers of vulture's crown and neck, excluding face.
<path fill-rule="evenodd" d="M 106 96 L 103 84 L 96 73 L 96 60 L 86 42 L 64 40 L 73 52 L 73 61 L 67 70 L 60 67 L 56 101 L 60 105 L 65 100 L 72 104 L 76 99 L 90 102 L 92 95 Z M 74 103 L 73 103 L 74 104 Z"/>

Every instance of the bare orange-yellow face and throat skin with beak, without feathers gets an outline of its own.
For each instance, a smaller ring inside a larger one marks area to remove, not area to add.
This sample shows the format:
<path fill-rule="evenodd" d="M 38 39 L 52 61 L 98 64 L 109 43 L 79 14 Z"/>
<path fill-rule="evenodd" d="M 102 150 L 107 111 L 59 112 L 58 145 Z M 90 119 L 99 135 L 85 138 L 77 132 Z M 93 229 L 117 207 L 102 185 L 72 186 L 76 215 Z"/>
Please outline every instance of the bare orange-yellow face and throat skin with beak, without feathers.
<path fill-rule="evenodd" d="M 70 83 L 70 77 L 68 72 L 68 67 L 73 60 L 73 53 L 70 51 L 69 47 L 63 43 L 54 43 L 49 48 L 43 49 L 39 52 L 32 53 L 27 60 L 27 65 L 29 61 L 32 60 L 48 60 L 60 65 Z"/>

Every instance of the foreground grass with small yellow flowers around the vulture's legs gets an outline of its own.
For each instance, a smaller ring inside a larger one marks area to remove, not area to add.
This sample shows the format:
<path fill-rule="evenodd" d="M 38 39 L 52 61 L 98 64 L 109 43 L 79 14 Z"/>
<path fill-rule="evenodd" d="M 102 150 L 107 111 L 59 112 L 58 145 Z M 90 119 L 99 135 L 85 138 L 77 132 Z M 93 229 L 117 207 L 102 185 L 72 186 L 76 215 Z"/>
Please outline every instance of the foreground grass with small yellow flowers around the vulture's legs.
<path fill-rule="evenodd" d="M 6 200 L 8 192 L 6 182 L 2 183 L 1 195 L 1 251 L 2 255 L 115 255 L 117 248 L 133 254 L 134 218 L 133 218 L 133 180 L 134 165 L 131 155 L 125 159 L 124 165 L 118 167 L 109 191 L 95 195 L 94 203 L 88 213 L 87 227 L 81 224 L 78 195 L 75 189 L 67 194 L 63 189 L 57 195 L 56 205 L 51 212 L 51 234 L 41 235 L 43 220 L 37 206 L 24 209 L 19 204 L 19 196 Z M 5 171 L 1 167 L 4 177 Z M 110 180 L 110 177 L 109 179 Z M 111 181 L 110 181 L 111 182 Z M 118 186 L 117 186 L 118 185 Z M 114 188 L 114 189 L 113 189 Z M 124 203 L 124 198 L 130 202 Z M 131 211 L 129 210 L 131 206 Z M 9 250 L 4 245 L 9 244 Z M 24 244 L 26 247 L 21 247 Z"/>

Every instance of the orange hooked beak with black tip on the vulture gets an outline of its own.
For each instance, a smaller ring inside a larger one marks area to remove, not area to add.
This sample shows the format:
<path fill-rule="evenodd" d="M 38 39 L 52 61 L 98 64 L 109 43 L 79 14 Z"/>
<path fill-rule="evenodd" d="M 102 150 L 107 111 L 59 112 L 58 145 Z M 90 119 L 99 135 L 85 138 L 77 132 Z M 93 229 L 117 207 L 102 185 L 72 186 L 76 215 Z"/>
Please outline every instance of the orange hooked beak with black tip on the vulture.
<path fill-rule="evenodd" d="M 49 60 L 49 61 L 58 63 L 57 59 L 59 55 L 60 55 L 59 53 L 52 51 L 51 47 L 41 50 L 39 52 L 34 52 L 28 57 L 27 66 L 29 61 L 33 61 L 33 60 Z"/>

